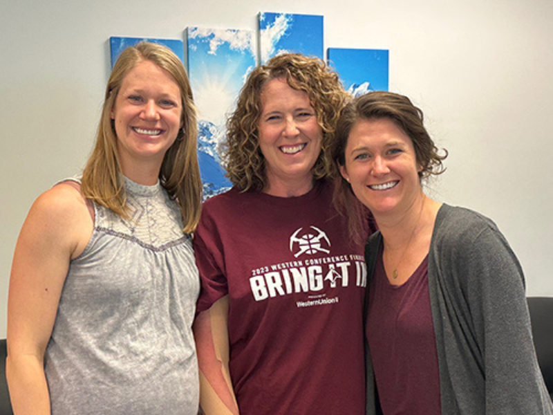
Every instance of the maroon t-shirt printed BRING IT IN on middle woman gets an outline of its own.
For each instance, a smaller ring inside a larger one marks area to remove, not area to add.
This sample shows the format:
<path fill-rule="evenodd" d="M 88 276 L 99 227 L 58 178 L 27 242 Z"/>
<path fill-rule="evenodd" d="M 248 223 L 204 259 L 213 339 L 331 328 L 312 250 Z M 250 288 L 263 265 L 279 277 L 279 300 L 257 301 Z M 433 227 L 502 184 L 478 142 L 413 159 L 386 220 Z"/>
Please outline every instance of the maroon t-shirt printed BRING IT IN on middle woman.
<path fill-rule="evenodd" d="M 229 295 L 241 415 L 364 414 L 364 247 L 326 183 L 299 197 L 230 190 L 194 236 L 198 311 Z"/>

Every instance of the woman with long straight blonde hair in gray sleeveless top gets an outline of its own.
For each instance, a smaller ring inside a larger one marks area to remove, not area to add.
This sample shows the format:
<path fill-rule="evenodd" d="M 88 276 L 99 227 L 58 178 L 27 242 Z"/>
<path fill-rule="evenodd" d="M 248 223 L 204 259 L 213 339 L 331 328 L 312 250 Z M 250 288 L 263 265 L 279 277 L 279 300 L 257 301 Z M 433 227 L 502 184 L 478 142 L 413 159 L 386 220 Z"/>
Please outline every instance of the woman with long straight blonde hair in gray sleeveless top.
<path fill-rule="evenodd" d="M 19 235 L 6 362 L 17 414 L 198 412 L 196 129 L 178 57 L 124 50 L 82 179 L 39 196 Z"/>

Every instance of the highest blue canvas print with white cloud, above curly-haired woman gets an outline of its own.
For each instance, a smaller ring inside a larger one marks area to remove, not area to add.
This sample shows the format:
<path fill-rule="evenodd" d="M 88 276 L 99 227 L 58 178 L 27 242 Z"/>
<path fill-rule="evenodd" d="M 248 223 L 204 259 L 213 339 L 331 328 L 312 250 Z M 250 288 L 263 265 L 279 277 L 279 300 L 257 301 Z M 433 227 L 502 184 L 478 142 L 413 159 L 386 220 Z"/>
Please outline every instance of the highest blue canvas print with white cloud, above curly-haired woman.
<path fill-rule="evenodd" d="M 323 17 L 290 13 L 259 13 L 261 64 L 274 55 L 297 52 L 324 59 Z"/>

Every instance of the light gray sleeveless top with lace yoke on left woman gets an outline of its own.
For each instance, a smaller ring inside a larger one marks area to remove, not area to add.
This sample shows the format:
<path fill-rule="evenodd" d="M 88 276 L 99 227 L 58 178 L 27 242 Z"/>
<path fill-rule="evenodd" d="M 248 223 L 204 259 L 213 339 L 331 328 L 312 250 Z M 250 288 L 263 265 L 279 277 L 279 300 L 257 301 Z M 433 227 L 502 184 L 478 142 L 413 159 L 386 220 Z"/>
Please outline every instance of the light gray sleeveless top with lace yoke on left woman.
<path fill-rule="evenodd" d="M 198 413 L 190 237 L 159 183 L 125 185 L 131 218 L 95 203 L 68 270 L 45 356 L 53 415 Z"/>

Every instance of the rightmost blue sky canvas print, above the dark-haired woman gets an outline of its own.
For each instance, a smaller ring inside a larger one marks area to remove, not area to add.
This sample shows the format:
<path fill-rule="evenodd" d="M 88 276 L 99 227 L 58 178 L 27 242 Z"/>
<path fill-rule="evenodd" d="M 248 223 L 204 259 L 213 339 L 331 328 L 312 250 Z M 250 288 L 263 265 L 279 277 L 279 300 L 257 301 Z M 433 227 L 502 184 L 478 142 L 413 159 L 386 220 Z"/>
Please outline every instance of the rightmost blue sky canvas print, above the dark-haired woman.
<path fill-rule="evenodd" d="M 388 91 L 389 53 L 384 49 L 328 48 L 328 62 L 353 95 Z"/>

